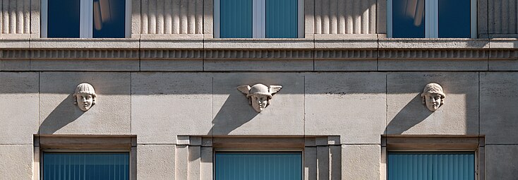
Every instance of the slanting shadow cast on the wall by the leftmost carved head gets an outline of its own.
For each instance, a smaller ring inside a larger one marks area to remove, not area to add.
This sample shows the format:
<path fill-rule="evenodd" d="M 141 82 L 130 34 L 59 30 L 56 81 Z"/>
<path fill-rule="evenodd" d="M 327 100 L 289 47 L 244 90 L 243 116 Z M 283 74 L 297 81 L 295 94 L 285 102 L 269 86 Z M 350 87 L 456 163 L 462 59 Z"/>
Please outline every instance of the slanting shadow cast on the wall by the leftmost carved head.
<path fill-rule="evenodd" d="M 95 107 L 95 105 L 94 105 Z M 73 104 L 73 94 L 68 95 L 65 100 L 58 104 L 56 108 L 42 121 L 40 134 L 53 134 L 72 121 L 85 114 Z"/>

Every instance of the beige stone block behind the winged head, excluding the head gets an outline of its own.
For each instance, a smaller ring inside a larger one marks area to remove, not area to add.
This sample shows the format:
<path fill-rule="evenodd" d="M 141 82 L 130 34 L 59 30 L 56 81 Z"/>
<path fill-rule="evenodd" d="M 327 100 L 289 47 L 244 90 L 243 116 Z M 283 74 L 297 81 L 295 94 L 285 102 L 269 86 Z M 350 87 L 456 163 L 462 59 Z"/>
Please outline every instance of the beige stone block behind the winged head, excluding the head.
<path fill-rule="evenodd" d="M 255 112 L 239 85 L 282 85 L 263 112 Z M 214 135 L 302 135 L 303 76 L 300 73 L 217 73 L 214 76 Z"/>

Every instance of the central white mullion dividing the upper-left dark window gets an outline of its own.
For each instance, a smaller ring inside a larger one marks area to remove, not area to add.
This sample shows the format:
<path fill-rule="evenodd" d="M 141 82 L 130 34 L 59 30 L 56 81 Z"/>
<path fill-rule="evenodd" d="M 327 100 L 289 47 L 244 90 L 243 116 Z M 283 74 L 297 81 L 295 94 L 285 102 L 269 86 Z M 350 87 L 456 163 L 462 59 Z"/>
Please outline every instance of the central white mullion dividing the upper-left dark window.
<path fill-rule="evenodd" d="M 92 38 L 93 33 L 93 2 L 92 0 L 80 0 L 79 37 Z"/>

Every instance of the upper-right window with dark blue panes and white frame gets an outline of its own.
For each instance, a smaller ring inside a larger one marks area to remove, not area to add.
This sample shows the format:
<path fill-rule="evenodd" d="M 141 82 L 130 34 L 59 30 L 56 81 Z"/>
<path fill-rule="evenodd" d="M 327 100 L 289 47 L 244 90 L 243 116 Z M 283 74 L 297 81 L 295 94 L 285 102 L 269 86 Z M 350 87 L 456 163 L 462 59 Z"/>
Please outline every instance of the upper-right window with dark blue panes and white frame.
<path fill-rule="evenodd" d="M 387 36 L 476 38 L 476 1 L 388 0 Z"/>

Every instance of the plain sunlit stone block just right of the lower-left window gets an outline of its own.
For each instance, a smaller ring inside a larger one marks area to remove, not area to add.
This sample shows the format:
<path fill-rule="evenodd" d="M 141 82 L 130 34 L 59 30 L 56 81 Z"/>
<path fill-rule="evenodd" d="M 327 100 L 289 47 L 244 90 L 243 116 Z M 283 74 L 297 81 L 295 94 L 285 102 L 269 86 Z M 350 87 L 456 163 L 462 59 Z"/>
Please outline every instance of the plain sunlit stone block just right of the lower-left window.
<path fill-rule="evenodd" d="M 176 145 L 137 145 L 137 178 L 174 179 Z"/>

